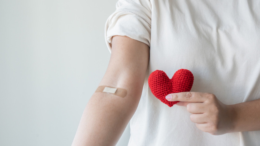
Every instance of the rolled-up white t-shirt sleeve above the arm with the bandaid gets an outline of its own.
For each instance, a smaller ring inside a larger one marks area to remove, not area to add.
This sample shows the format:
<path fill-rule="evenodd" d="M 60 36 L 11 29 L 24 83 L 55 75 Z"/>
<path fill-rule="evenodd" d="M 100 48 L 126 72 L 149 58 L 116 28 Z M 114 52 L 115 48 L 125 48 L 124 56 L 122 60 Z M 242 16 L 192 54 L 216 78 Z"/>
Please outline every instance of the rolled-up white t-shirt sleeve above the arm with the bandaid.
<path fill-rule="evenodd" d="M 149 0 L 119 0 L 105 25 L 106 45 L 111 52 L 113 36 L 127 36 L 150 47 L 151 4 Z"/>

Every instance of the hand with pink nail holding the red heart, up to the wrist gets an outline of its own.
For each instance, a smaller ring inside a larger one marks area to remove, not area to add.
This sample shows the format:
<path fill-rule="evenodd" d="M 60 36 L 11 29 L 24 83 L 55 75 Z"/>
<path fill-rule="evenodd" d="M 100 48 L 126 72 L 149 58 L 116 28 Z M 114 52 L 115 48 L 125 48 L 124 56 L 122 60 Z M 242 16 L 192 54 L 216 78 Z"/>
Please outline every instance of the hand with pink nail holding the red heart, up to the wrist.
<path fill-rule="evenodd" d="M 187 106 L 190 120 L 198 129 L 212 135 L 232 132 L 234 128 L 232 107 L 223 104 L 214 94 L 180 92 L 166 96 L 168 101 L 180 101 L 176 105 Z"/>

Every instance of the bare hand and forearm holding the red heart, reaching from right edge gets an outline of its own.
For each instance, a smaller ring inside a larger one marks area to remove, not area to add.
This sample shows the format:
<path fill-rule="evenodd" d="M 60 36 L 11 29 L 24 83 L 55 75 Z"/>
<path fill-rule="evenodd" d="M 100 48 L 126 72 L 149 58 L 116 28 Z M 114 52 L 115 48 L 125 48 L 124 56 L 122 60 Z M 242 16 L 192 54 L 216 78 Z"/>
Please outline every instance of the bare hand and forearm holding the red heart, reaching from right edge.
<path fill-rule="evenodd" d="M 260 130 L 260 99 L 235 105 L 225 105 L 211 93 L 181 92 L 166 96 L 168 101 L 180 101 L 191 113 L 191 122 L 212 135 Z"/>

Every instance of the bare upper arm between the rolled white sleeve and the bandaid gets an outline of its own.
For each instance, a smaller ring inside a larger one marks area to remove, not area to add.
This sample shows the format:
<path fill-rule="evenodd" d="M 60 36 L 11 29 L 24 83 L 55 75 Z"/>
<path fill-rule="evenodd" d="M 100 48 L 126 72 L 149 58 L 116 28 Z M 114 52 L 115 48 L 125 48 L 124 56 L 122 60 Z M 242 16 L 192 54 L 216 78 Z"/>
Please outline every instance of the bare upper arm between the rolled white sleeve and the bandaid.
<path fill-rule="evenodd" d="M 132 96 L 141 96 L 150 48 L 126 36 L 114 36 L 111 58 L 100 85 L 125 88 Z"/>

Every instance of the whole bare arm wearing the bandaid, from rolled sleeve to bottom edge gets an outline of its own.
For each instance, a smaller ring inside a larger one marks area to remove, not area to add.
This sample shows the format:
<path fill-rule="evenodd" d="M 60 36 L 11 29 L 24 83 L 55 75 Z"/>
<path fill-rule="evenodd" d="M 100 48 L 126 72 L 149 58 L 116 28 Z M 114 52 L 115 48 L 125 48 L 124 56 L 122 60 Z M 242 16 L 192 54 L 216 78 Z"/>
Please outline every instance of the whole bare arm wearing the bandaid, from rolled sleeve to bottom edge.
<path fill-rule="evenodd" d="M 95 92 L 80 120 L 72 146 L 115 145 L 137 109 L 149 62 L 148 45 L 114 36 L 106 73 L 99 85 L 124 88 L 126 97 Z"/>

